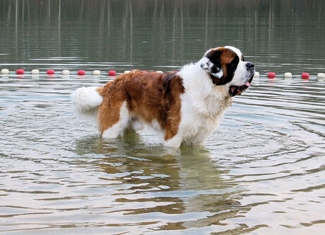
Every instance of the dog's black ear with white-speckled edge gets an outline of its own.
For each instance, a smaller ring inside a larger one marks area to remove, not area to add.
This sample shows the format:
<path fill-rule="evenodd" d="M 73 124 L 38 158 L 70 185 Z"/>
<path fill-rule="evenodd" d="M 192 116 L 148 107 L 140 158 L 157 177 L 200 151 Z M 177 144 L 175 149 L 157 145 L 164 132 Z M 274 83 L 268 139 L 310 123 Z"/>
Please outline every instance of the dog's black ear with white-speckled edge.
<path fill-rule="evenodd" d="M 201 59 L 201 68 L 208 71 L 209 74 L 215 76 L 217 79 L 223 77 L 223 67 L 220 60 L 221 53 L 221 50 L 211 49 Z"/>

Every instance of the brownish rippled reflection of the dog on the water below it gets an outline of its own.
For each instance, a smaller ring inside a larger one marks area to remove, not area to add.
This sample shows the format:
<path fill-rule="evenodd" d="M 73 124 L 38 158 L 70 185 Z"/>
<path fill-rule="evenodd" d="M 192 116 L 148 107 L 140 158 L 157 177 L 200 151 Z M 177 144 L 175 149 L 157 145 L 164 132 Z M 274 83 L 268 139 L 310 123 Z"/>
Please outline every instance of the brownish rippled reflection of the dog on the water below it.
<path fill-rule="evenodd" d="M 207 149 L 170 149 L 150 144 L 152 137 L 126 133 L 123 139 L 110 142 L 89 137 L 77 142 L 76 150 L 83 158 L 95 157 L 95 164 L 107 173 L 105 178 L 119 182 L 114 184 L 114 195 L 118 195 L 114 203 L 124 203 L 124 214 L 162 212 L 180 218 L 191 212 L 208 214 L 170 219 L 159 229 L 203 227 L 237 214 L 240 191 L 223 177 L 228 170 L 218 169 Z"/>

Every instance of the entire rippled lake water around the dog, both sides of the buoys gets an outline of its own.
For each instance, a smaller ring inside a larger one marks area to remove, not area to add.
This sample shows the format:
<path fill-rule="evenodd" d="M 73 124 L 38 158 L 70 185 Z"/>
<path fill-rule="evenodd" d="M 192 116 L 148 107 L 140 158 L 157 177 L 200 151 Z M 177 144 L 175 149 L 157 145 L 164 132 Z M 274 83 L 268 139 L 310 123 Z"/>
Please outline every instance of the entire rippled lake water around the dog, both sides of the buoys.
<path fill-rule="evenodd" d="M 317 0 L 1 0 L 0 234 L 324 233 L 324 11 Z M 204 147 L 166 148 L 150 130 L 104 141 L 73 110 L 71 92 L 111 69 L 173 71 L 220 45 L 264 76 Z"/>

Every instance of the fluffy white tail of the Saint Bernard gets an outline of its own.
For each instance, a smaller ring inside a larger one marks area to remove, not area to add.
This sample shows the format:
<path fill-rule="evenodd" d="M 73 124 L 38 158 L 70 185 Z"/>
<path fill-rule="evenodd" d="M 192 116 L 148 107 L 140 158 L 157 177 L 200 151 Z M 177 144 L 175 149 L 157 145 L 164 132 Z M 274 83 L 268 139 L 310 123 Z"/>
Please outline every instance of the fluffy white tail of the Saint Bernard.
<path fill-rule="evenodd" d="M 81 114 L 97 113 L 98 106 L 102 103 L 100 92 L 102 86 L 81 87 L 72 93 L 72 103 Z"/>

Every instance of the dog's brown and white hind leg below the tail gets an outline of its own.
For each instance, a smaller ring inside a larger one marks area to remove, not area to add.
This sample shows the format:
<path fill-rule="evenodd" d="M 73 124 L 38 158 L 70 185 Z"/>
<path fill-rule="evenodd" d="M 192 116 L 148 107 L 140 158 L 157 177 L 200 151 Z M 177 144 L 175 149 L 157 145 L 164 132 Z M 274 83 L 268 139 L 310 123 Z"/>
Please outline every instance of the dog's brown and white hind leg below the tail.
<path fill-rule="evenodd" d="M 102 106 L 99 112 L 100 132 L 103 138 L 117 138 L 129 125 L 130 115 L 125 101 L 122 105 Z"/>

